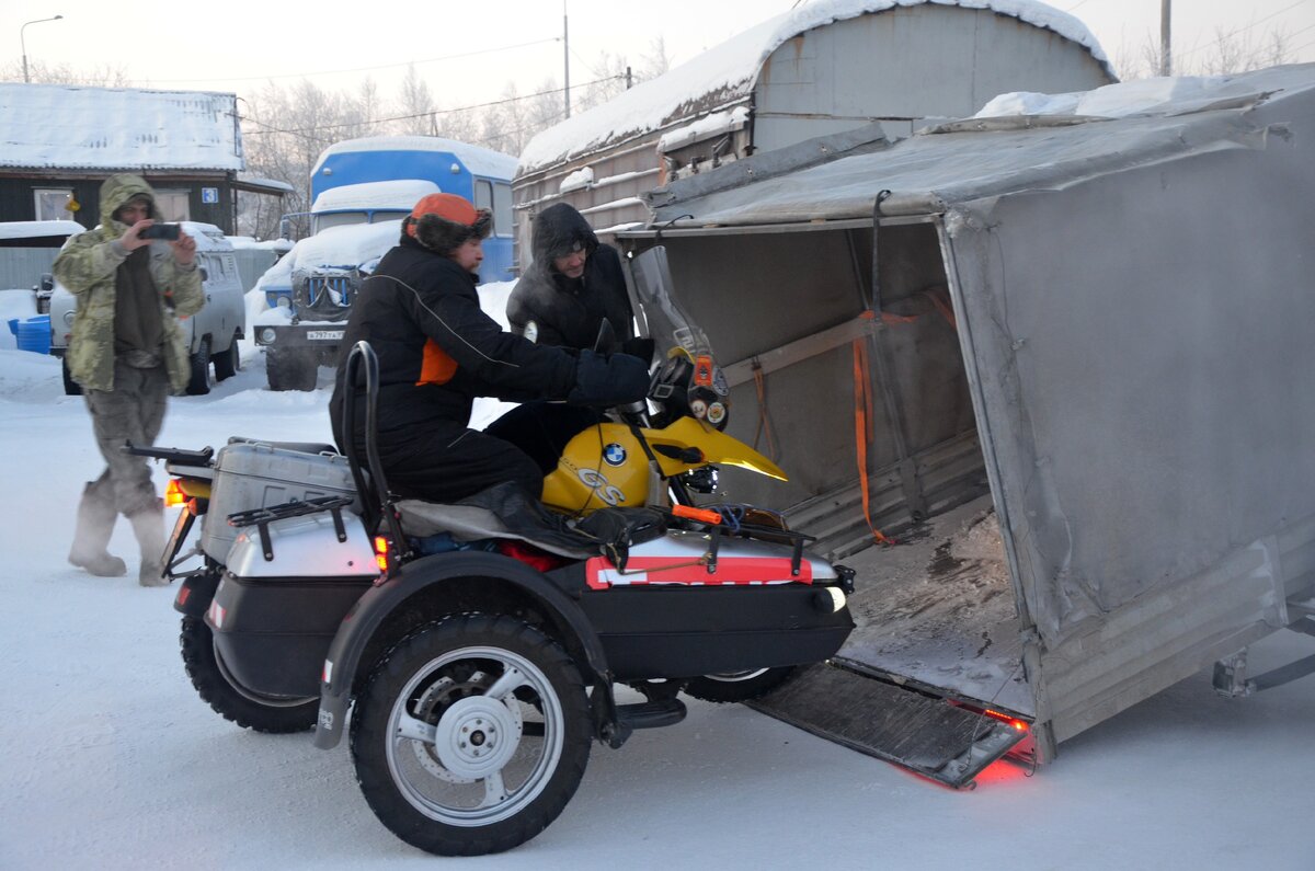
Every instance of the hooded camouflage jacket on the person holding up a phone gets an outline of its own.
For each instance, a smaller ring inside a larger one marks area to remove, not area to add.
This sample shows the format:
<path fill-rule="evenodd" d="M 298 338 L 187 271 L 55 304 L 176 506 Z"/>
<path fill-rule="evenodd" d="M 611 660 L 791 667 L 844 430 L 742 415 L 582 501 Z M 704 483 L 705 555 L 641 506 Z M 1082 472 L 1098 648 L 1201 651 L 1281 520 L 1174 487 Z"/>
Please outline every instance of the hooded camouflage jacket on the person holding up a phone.
<path fill-rule="evenodd" d="M 85 389 L 114 389 L 114 282 L 130 254 L 117 243 L 128 226 L 114 220 L 114 211 L 142 193 L 151 197 L 150 216 L 159 218 L 155 195 L 146 182 L 135 175 L 110 176 L 101 187 L 100 226 L 75 236 L 55 258 L 55 278 L 78 297 L 68 339 L 68 375 Z M 196 314 L 205 304 L 201 271 L 195 262 L 181 266 L 168 242 L 154 241 L 150 275 L 159 292 L 164 367 L 174 392 L 181 392 L 192 368 L 178 318 Z"/>

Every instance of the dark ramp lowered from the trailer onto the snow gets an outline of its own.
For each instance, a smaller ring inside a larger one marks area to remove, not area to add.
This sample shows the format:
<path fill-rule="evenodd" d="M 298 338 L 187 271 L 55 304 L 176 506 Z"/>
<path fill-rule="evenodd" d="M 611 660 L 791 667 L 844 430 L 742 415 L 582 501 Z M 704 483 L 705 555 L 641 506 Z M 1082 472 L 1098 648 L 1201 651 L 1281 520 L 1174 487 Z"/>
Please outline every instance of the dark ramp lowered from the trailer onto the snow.
<path fill-rule="evenodd" d="M 956 789 L 1027 737 L 1006 721 L 830 663 L 747 704 Z"/>

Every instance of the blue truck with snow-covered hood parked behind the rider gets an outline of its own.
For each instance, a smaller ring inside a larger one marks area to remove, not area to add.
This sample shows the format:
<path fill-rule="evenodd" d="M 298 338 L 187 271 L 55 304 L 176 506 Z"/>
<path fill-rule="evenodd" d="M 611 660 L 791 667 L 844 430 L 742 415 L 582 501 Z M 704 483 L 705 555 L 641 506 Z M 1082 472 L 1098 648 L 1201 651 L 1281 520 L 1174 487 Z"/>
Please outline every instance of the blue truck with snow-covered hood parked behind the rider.
<path fill-rule="evenodd" d="M 392 225 L 429 193 L 458 193 L 493 213 L 481 278 L 510 278 L 514 172 L 513 157 L 434 137 L 367 137 L 326 149 L 310 172 L 312 236 L 260 280 L 271 316 L 256 343 L 266 349 L 270 389 L 314 389 L 316 370 L 337 362 L 360 282 L 397 241 L 394 229 L 381 250 L 362 250 L 352 243 L 359 237 L 337 233 L 345 226 Z"/>

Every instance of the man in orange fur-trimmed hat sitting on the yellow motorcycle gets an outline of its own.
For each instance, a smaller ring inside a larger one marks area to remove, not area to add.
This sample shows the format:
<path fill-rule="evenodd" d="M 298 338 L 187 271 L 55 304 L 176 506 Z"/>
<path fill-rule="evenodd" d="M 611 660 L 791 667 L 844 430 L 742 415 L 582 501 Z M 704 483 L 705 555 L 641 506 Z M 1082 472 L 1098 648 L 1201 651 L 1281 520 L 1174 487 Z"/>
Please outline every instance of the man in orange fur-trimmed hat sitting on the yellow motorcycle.
<path fill-rule="evenodd" d="M 463 197 L 431 193 L 402 222 L 351 307 L 330 400 L 334 439 L 363 450 L 364 401 L 343 432 L 346 361 L 366 339 L 379 357 L 379 453 L 401 496 L 451 503 L 501 482 L 543 492 L 539 466 L 514 445 L 469 429 L 476 396 L 509 401 L 567 399 L 579 405 L 639 400 L 644 361 L 625 354 L 579 355 L 504 333 L 480 311 L 475 270 L 490 229 L 487 211 Z"/>

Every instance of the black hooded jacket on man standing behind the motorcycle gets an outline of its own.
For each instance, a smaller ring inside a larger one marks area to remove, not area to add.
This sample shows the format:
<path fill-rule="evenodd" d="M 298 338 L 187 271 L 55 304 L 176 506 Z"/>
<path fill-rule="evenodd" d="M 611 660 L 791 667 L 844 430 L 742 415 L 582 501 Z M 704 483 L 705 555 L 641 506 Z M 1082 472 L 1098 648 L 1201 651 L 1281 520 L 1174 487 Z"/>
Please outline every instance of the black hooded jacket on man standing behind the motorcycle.
<path fill-rule="evenodd" d="M 579 242 L 589 251 L 584 275 L 568 279 L 552 268 Z M 565 203 L 550 207 L 534 218 L 534 262 L 512 289 L 506 320 L 512 332 L 523 336 L 533 322 L 534 341 L 556 347 L 593 347 L 604 318 L 618 339 L 634 336 L 630 296 L 621 271 L 621 257 L 601 245 L 584 216 Z"/>

